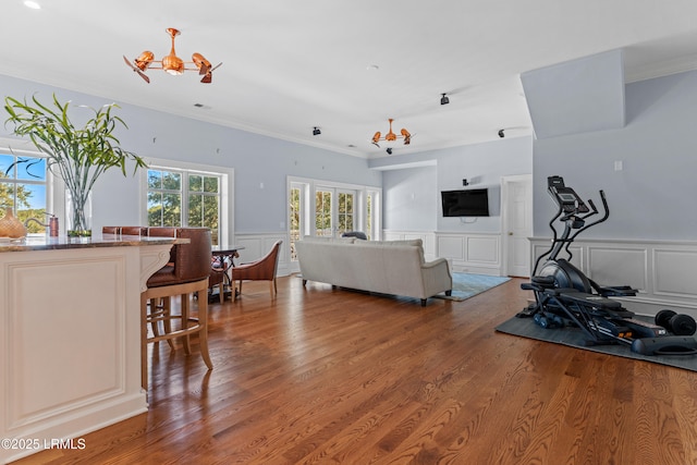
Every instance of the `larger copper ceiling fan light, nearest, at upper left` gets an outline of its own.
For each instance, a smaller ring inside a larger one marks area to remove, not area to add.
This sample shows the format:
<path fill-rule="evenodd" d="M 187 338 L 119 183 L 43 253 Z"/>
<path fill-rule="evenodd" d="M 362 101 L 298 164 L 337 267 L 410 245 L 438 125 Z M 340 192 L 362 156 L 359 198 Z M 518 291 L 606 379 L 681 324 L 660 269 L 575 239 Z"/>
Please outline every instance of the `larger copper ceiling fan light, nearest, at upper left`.
<path fill-rule="evenodd" d="M 143 53 L 138 56 L 133 62 L 131 62 L 125 56 L 123 60 L 126 64 L 135 72 L 146 83 L 150 83 L 150 78 L 145 74 L 145 72 L 150 70 L 163 70 L 172 75 L 184 74 L 184 71 L 198 71 L 198 74 L 204 76 L 200 82 L 204 84 L 209 84 L 212 79 L 212 72 L 222 63 L 218 64 L 218 66 L 212 68 L 210 65 L 210 61 L 206 60 L 203 54 L 194 53 L 192 54 L 192 61 L 184 61 L 176 56 L 174 51 L 174 37 L 179 36 L 179 29 L 173 27 L 168 27 L 164 29 L 167 34 L 172 38 L 172 50 L 170 54 L 162 58 L 162 60 L 155 60 L 155 53 L 149 50 L 145 50 Z M 188 66 L 187 66 L 188 65 Z"/>

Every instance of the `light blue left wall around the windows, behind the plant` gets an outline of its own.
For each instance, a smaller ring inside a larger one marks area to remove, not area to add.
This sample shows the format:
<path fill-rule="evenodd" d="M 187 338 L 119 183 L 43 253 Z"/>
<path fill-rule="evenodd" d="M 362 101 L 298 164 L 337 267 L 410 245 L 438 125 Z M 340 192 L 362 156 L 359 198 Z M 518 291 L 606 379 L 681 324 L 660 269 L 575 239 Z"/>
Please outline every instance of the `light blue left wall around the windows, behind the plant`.
<path fill-rule="evenodd" d="M 53 88 L 0 75 L 2 97 L 22 99 L 34 94 L 93 108 L 110 103 L 100 97 Z M 155 91 L 155 90 L 154 90 Z M 119 101 L 117 101 L 119 103 Z M 234 227 L 237 233 L 283 231 L 286 222 L 286 176 L 311 178 L 380 187 L 382 175 L 357 157 L 250 134 L 216 124 L 120 103 L 118 114 L 129 124 L 118 137 L 122 147 L 139 156 L 233 168 Z M 4 119 L 3 119 L 4 120 Z M 0 137 L 9 137 L 0 125 Z M 264 184 L 264 188 L 260 184 Z M 94 191 L 94 224 L 139 224 L 138 178 L 107 172 Z"/>

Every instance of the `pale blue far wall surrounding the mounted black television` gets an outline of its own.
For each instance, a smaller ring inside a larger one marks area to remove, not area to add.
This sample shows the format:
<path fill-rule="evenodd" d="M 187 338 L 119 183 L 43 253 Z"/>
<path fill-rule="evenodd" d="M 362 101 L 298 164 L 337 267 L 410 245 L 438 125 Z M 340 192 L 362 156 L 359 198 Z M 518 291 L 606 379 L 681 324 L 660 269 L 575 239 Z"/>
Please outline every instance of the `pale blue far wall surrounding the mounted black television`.
<path fill-rule="evenodd" d="M 533 140 L 531 137 L 505 138 L 381 159 L 379 166 L 418 161 L 436 166 L 384 172 L 386 229 L 498 233 L 501 231 L 501 178 L 533 172 Z M 442 217 L 440 192 L 463 188 L 463 179 L 469 182 L 467 188 L 489 188 L 489 218 L 461 221 Z"/>

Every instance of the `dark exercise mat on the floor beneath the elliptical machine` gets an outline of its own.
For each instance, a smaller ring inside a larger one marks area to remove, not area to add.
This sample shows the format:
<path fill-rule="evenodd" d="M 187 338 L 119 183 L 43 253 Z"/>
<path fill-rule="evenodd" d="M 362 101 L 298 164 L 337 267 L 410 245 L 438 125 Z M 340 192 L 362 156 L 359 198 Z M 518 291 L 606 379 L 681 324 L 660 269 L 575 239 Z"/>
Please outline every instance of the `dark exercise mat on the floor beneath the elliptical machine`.
<path fill-rule="evenodd" d="M 647 317 L 636 316 L 636 319 L 644 319 L 652 322 Z M 570 347 L 583 348 L 586 351 L 598 352 L 601 354 L 616 355 L 619 357 L 634 358 L 637 360 L 646 360 L 655 364 L 669 365 L 671 367 L 683 368 L 690 371 L 697 371 L 697 355 L 641 355 L 635 354 L 626 344 L 612 345 L 585 345 L 585 335 L 578 328 L 555 328 L 545 329 L 537 325 L 533 318 L 513 317 L 508 321 L 499 325 L 497 331 L 506 334 L 518 335 L 522 338 L 535 339 L 538 341 L 551 342 L 554 344 L 567 345 Z"/>

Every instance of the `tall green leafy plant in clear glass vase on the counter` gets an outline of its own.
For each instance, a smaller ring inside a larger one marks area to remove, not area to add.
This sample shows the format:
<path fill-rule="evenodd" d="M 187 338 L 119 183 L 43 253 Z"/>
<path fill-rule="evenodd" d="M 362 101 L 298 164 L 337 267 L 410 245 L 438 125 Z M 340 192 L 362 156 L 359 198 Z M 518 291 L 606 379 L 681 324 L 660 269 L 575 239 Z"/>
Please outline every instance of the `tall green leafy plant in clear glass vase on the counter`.
<path fill-rule="evenodd" d="M 98 110 L 88 108 L 94 114 L 83 127 L 76 127 L 69 118 L 70 101 L 61 103 L 53 95 L 53 105 L 41 103 L 36 96 L 32 101 L 21 101 L 5 97 L 4 109 L 10 114 L 5 120 L 14 125 L 13 134 L 28 136 L 34 146 L 46 155 L 47 166 L 61 176 L 74 203 L 73 224 L 77 231 L 85 227 L 83 207 L 97 179 L 107 170 L 118 167 L 126 175 L 126 162 L 135 162 L 146 168 L 143 158 L 121 148 L 114 136 L 118 126 L 127 127 L 112 110 L 119 108 L 111 103 Z"/>

